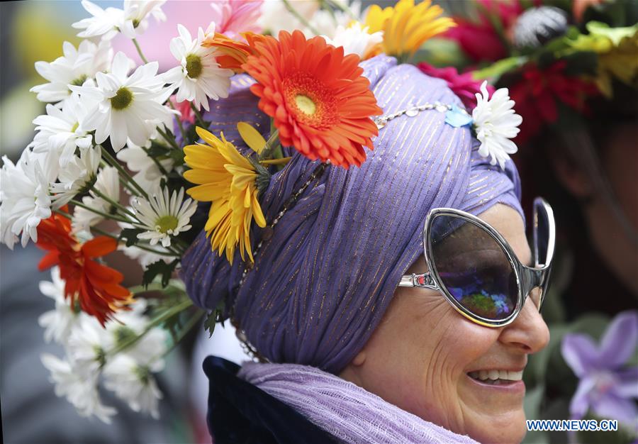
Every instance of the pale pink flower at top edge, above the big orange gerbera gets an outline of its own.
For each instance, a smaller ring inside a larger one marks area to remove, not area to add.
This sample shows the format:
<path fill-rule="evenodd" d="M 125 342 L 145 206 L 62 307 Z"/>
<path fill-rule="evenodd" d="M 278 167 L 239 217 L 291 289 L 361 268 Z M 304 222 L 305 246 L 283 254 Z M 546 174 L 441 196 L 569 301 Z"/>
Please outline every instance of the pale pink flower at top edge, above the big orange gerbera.
<path fill-rule="evenodd" d="M 257 18 L 262 11 L 263 0 L 216 0 L 213 1 L 215 32 L 228 38 L 237 38 L 239 33 L 261 33 Z"/>

